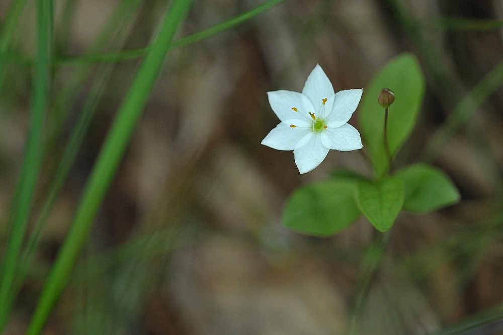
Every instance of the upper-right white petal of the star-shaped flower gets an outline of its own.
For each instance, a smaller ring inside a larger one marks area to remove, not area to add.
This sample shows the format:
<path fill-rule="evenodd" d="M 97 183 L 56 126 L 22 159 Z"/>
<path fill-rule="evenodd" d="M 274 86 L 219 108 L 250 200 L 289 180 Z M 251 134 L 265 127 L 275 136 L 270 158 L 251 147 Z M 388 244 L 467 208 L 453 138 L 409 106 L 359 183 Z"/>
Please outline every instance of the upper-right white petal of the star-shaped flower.
<path fill-rule="evenodd" d="M 336 93 L 326 120 L 332 127 L 341 127 L 351 119 L 362 98 L 363 89 L 345 89 Z"/>

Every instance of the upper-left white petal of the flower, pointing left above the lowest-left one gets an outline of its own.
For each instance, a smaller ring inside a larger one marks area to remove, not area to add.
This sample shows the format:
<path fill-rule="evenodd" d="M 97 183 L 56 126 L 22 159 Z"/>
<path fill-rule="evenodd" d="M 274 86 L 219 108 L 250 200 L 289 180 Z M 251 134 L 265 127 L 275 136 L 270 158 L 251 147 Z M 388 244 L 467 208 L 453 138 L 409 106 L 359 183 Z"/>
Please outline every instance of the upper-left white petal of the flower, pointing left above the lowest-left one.
<path fill-rule="evenodd" d="M 302 108 L 312 108 L 311 102 L 302 93 L 280 89 L 279 91 L 267 92 L 267 96 L 271 108 L 281 121 L 289 119 L 310 120 L 307 112 L 311 110 L 302 110 Z M 293 110 L 292 107 L 298 108 L 299 111 Z"/>

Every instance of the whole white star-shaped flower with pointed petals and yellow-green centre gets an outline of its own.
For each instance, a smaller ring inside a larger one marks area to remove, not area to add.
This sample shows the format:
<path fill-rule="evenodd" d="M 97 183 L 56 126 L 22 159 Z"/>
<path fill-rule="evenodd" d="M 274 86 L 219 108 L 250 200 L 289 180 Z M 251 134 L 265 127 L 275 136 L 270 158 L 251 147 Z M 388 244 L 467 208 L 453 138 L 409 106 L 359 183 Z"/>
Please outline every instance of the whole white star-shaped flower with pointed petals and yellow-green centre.
<path fill-rule="evenodd" d="M 361 149 L 360 133 L 348 121 L 362 92 L 362 89 L 346 89 L 334 93 L 330 80 L 316 64 L 302 93 L 267 92 L 281 123 L 267 134 L 262 144 L 277 150 L 293 150 L 300 173 L 317 167 L 330 149 Z"/>

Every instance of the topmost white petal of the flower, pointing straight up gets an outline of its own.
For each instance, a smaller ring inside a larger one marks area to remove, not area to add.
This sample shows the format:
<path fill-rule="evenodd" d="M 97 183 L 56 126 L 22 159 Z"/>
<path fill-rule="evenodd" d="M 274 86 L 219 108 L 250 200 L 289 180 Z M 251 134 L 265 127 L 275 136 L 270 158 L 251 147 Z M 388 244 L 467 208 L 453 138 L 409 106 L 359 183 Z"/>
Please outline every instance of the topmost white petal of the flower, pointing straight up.
<path fill-rule="evenodd" d="M 302 94 L 307 96 L 314 106 L 314 110 L 312 110 L 313 113 L 316 113 L 320 109 L 322 105 L 321 99 L 324 98 L 327 98 L 325 103 L 326 112 L 332 110 L 334 100 L 333 86 L 330 79 L 328 79 L 325 72 L 323 72 L 323 69 L 318 64 L 316 64 L 307 77 L 304 88 L 302 89 Z"/>

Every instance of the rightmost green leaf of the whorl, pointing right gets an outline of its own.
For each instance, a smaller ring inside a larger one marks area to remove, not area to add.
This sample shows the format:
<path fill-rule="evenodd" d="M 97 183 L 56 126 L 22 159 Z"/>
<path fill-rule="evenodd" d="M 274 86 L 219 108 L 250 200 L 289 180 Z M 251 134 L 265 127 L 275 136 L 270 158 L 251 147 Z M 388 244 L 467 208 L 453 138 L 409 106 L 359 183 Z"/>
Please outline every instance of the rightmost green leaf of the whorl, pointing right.
<path fill-rule="evenodd" d="M 433 166 L 418 163 L 395 174 L 403 181 L 403 208 L 414 212 L 430 212 L 457 203 L 461 196 L 449 177 Z"/>

